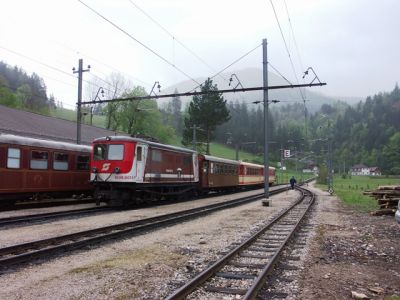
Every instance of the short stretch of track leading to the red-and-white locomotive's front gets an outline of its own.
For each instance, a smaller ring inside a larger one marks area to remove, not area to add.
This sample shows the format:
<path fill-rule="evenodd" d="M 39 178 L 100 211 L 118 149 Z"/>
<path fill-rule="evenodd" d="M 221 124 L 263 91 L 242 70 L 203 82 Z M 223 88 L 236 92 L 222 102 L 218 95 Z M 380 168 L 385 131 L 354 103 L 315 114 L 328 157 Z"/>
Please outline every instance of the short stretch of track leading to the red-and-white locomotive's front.
<path fill-rule="evenodd" d="M 14 216 L 0 219 L 0 227 L 16 226 L 16 225 L 30 225 L 31 223 L 38 223 L 47 220 L 61 219 L 66 217 L 75 217 L 82 215 L 91 215 L 104 213 L 107 211 L 115 210 L 110 207 L 93 207 L 85 209 L 64 210 L 59 212 L 31 214 L 25 216 Z"/>

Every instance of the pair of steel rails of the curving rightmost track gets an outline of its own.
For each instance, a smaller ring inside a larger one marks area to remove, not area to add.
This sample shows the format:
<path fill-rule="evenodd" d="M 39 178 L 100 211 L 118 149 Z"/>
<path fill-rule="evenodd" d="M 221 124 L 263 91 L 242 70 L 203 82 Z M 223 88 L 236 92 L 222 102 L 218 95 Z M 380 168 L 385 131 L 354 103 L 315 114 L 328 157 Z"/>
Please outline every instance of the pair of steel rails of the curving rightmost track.
<path fill-rule="evenodd" d="M 306 191 L 305 189 L 300 188 L 300 187 L 296 187 L 296 188 L 301 191 Z M 284 211 L 279 213 L 267 225 L 265 225 L 263 228 L 261 228 L 258 232 L 254 233 L 251 237 L 249 237 L 247 240 L 242 242 L 240 245 L 238 245 L 237 247 L 235 247 L 234 249 L 229 251 L 222 258 L 218 259 L 207 269 L 205 269 L 204 271 L 199 273 L 197 276 L 192 278 L 189 282 L 187 282 L 185 285 L 183 285 L 182 287 L 177 289 L 173 294 L 168 296 L 166 299 L 167 300 L 184 299 L 186 296 L 188 296 L 190 293 L 192 293 L 195 289 L 197 289 L 198 287 L 203 285 L 208 279 L 213 277 L 219 270 L 221 270 L 224 266 L 226 266 L 229 261 L 232 261 L 232 259 L 234 257 L 236 257 L 237 254 L 239 254 L 244 249 L 248 248 L 249 245 L 253 244 L 267 230 L 272 228 L 278 221 L 280 221 L 282 218 L 284 218 L 286 215 L 288 215 L 289 212 L 292 211 L 292 209 L 297 207 L 304 200 L 304 198 L 305 198 L 305 193 L 303 192 L 301 197 L 296 202 L 294 202 L 292 205 L 290 205 Z M 286 246 L 288 241 L 291 239 L 294 232 L 297 230 L 299 224 L 304 219 L 306 213 L 309 211 L 309 209 L 313 203 L 314 203 L 314 196 L 313 196 L 312 200 L 310 201 L 309 205 L 307 206 L 307 209 L 301 216 L 301 218 L 296 222 L 296 224 L 293 227 L 293 229 L 291 230 L 291 232 L 283 240 L 283 242 L 281 243 L 280 247 L 277 249 L 275 254 L 270 258 L 268 264 L 263 268 L 262 272 L 255 279 L 253 285 L 248 289 L 248 291 L 246 292 L 243 299 L 254 299 L 254 297 L 258 293 L 259 289 L 264 285 L 267 275 L 271 271 L 272 267 L 276 264 L 284 247 Z"/>

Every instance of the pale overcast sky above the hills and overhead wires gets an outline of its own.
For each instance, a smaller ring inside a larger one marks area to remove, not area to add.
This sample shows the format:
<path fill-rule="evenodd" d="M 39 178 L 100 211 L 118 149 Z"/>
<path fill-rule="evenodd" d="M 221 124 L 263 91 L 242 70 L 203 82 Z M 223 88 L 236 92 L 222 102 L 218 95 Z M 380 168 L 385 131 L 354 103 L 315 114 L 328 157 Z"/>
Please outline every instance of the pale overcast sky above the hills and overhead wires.
<path fill-rule="evenodd" d="M 1 4 L 0 60 L 39 74 L 48 93 L 65 107 L 76 103 L 77 79 L 72 68 L 78 66 L 79 58 L 85 66 L 91 65 L 85 80 L 107 80 L 110 73 L 120 72 L 150 91 L 155 81 L 166 88 L 190 78 L 213 76 L 261 45 L 263 38 L 268 40 L 269 62 L 296 82 L 269 0 L 82 2 L 132 38 L 77 0 Z M 299 81 L 311 66 L 327 83 L 314 91 L 366 97 L 391 91 L 399 81 L 400 1 L 286 0 L 298 52 L 285 1 L 273 0 L 273 4 Z M 226 72 L 246 67 L 262 68 L 261 47 Z"/>

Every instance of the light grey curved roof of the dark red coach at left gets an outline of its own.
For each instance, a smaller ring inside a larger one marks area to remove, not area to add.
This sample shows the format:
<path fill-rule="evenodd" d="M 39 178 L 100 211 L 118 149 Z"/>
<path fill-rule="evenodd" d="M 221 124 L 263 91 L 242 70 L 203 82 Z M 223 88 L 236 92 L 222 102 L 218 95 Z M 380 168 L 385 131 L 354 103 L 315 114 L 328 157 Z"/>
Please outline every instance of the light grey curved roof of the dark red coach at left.
<path fill-rule="evenodd" d="M 90 146 L 85 145 L 76 145 L 50 140 L 40 140 L 12 134 L 0 134 L 0 143 L 80 152 L 90 152 L 92 149 Z"/>

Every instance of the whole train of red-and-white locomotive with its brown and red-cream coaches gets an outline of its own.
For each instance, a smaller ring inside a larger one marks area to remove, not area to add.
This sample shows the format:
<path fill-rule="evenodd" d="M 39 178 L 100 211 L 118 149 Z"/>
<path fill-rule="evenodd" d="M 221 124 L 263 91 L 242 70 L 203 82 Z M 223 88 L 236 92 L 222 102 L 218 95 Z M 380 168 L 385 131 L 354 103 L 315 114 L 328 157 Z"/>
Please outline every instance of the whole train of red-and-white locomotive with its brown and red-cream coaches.
<path fill-rule="evenodd" d="M 91 182 L 109 205 L 262 186 L 264 166 L 127 136 L 94 140 Z M 275 169 L 270 168 L 270 185 Z"/>

